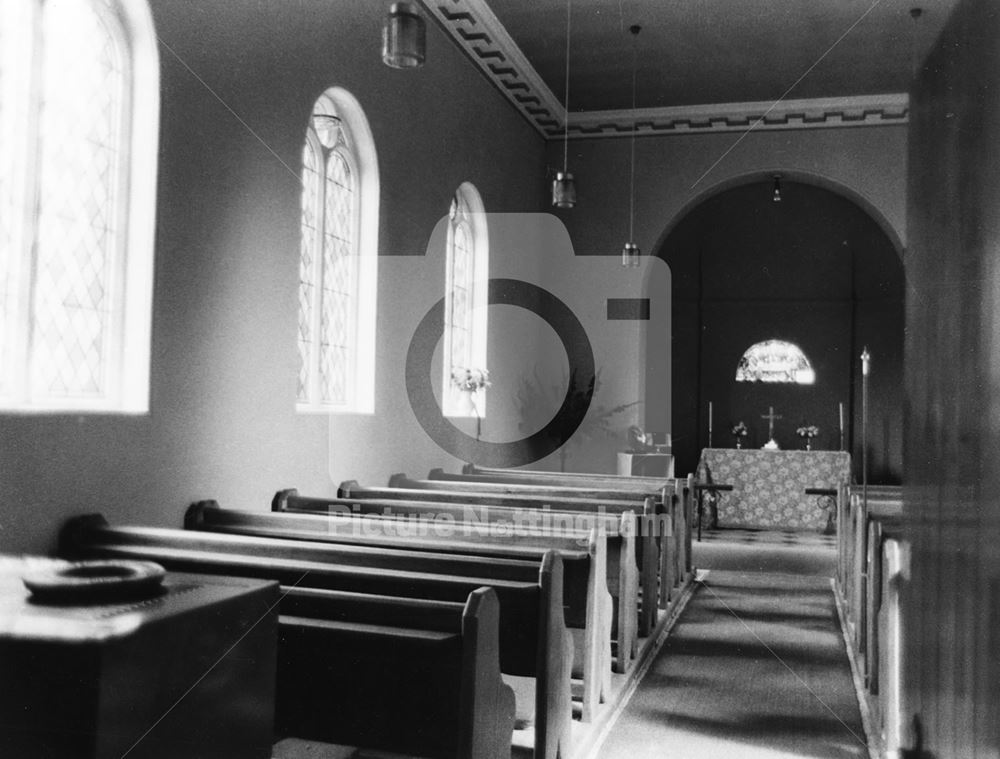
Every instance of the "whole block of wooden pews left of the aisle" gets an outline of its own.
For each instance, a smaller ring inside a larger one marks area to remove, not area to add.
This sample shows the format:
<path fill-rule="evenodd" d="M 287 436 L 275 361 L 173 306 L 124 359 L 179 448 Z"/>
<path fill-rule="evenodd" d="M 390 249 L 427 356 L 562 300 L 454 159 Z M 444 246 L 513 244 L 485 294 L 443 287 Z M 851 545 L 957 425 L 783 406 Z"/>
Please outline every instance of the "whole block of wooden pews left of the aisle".
<path fill-rule="evenodd" d="M 691 581 L 692 485 L 470 466 L 184 529 L 79 517 L 60 553 L 277 580 L 279 740 L 568 759 Z"/>

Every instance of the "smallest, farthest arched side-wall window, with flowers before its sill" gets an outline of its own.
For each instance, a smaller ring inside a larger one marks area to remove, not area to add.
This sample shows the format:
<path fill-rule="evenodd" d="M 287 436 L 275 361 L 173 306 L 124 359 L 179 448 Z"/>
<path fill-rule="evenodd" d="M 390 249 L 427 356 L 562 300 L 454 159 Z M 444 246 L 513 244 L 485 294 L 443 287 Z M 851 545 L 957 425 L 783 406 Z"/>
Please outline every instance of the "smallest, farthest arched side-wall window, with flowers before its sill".
<path fill-rule="evenodd" d="M 463 182 L 451 201 L 446 245 L 442 408 L 447 416 L 482 417 L 486 389 L 470 398 L 453 380 L 487 372 L 489 235 L 482 198 L 470 182 Z"/>

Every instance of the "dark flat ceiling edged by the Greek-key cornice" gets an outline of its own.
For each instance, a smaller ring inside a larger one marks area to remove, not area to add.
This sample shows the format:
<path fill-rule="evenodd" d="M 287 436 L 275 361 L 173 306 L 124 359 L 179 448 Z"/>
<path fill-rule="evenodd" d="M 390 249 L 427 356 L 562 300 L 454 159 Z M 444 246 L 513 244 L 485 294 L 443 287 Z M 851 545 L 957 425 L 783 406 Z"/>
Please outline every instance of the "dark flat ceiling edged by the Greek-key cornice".
<path fill-rule="evenodd" d="M 641 111 L 899 95 L 957 0 L 570 2 L 573 124 L 632 111 L 633 51 Z M 567 0 L 424 4 L 509 97 L 537 98 L 549 111 L 534 118 L 543 132 L 558 131 Z"/>

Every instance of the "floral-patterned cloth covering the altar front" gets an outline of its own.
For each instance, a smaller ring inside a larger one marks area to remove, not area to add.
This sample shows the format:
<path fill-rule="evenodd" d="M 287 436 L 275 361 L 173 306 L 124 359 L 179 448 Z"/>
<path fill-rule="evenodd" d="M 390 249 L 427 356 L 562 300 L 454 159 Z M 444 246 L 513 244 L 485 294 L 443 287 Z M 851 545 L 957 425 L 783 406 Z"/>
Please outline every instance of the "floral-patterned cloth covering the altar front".
<path fill-rule="evenodd" d="M 733 486 L 714 494 L 719 527 L 822 532 L 836 502 L 806 489 L 836 489 L 850 476 L 851 456 L 844 451 L 706 448 L 698 462 L 700 482 Z"/>

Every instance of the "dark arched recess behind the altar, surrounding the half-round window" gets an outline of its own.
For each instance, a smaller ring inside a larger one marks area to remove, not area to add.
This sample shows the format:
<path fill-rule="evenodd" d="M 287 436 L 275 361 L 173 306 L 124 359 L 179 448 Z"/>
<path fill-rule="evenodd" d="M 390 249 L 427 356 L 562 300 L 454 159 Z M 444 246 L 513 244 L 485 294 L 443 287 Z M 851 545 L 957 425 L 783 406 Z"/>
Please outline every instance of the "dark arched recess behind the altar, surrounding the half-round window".
<path fill-rule="evenodd" d="M 868 430 L 873 481 L 898 482 L 902 468 L 903 267 L 897 238 L 863 203 L 811 182 L 748 177 L 705 197 L 673 222 L 656 255 L 672 275 L 669 410 L 650 409 L 668 425 L 679 471 L 693 470 L 709 445 L 712 404 L 715 447 L 732 447 L 733 425 L 744 422 L 743 444 L 768 439 L 762 415 L 782 419 L 775 438 L 802 447 L 795 434 L 814 425 L 814 448 L 840 445 L 861 453 L 859 356 L 873 356 Z M 748 348 L 792 343 L 808 356 L 813 383 L 737 382 Z M 649 346 L 652 352 L 656 346 Z"/>

